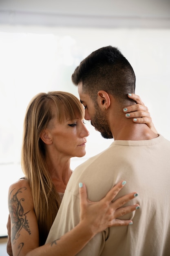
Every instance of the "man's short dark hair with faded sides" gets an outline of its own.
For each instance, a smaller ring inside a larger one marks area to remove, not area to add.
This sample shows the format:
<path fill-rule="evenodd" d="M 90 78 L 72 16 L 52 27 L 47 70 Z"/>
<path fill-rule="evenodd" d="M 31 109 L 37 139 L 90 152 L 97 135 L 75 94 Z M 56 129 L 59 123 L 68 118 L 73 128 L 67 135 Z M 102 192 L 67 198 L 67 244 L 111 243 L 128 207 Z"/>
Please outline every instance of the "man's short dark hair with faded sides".
<path fill-rule="evenodd" d="M 82 90 L 93 100 L 99 90 L 112 94 L 120 102 L 132 102 L 128 93 L 135 93 L 135 73 L 119 49 L 102 47 L 88 55 L 72 74 L 74 85 L 82 83 Z"/>

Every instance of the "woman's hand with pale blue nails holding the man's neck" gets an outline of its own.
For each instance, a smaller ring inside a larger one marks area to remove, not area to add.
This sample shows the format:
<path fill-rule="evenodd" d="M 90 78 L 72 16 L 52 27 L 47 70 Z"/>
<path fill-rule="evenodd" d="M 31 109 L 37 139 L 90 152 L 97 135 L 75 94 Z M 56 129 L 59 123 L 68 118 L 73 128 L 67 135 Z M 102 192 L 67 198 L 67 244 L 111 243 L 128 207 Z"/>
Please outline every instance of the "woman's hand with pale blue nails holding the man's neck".
<path fill-rule="evenodd" d="M 136 101 L 137 104 L 124 108 L 124 112 L 126 113 L 125 117 L 132 118 L 133 122 L 138 124 L 147 124 L 153 132 L 157 133 L 157 130 L 152 123 L 150 113 L 148 112 L 148 108 L 141 101 L 141 98 L 138 95 L 131 93 L 128 94 L 128 97 Z"/>

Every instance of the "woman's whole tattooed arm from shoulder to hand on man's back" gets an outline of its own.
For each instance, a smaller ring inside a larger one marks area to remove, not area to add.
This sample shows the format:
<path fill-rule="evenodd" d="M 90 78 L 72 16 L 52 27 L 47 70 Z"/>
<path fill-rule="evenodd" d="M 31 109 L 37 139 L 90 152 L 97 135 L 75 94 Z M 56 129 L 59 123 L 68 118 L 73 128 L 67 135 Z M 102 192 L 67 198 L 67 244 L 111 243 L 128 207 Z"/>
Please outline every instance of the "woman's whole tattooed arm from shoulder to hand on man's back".
<path fill-rule="evenodd" d="M 131 220 L 118 220 L 117 218 L 139 208 L 138 204 L 122 207 L 133 199 L 136 193 L 130 193 L 113 201 L 125 183 L 119 182 L 99 202 L 89 201 L 86 186 L 80 184 L 79 224 L 59 240 L 41 247 L 38 247 L 38 225 L 29 185 L 25 180 L 11 185 L 9 188 L 9 212 L 13 256 L 74 256 L 95 234 L 107 227 L 132 224 Z"/>

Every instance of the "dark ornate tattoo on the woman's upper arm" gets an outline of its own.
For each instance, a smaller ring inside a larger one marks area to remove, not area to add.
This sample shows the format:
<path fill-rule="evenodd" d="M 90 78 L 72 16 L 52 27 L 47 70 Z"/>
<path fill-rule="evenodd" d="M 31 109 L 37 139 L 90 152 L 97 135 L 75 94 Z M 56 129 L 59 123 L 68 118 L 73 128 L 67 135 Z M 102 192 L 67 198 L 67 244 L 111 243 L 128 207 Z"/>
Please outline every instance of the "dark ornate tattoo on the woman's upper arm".
<path fill-rule="evenodd" d="M 11 193 L 13 192 L 13 190 L 11 191 Z M 10 199 L 11 193 L 9 195 L 9 213 L 11 216 L 11 222 L 14 224 L 12 227 L 12 233 L 11 233 L 11 241 L 13 243 L 14 243 L 14 240 L 16 240 L 20 236 L 20 231 L 23 228 L 29 233 L 29 235 L 31 235 L 29 222 L 26 219 L 26 214 L 29 211 L 24 213 L 24 209 L 21 204 L 21 202 L 24 201 L 24 198 L 21 198 L 20 200 L 18 200 L 18 197 L 17 197 L 18 193 L 22 193 L 22 191 L 24 190 L 26 190 L 26 187 L 21 187 L 20 189 L 18 189 L 18 191 L 13 195 L 11 199 Z"/>

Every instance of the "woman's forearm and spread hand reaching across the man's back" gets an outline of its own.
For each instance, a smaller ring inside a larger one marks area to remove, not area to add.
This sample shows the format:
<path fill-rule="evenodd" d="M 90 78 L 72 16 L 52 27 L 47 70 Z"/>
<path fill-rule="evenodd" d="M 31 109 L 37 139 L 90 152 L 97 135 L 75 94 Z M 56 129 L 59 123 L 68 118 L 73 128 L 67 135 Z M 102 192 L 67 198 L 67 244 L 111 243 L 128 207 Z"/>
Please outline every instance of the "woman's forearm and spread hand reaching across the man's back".
<path fill-rule="evenodd" d="M 80 186 L 80 222 L 60 239 L 43 245 L 30 251 L 26 256 L 75 256 L 88 243 L 95 234 L 107 227 L 123 226 L 132 223 L 131 220 L 118 220 L 117 217 L 139 208 L 138 204 L 122 207 L 126 202 L 137 196 L 130 193 L 113 202 L 117 193 L 125 182 L 119 182 L 111 189 L 105 198 L 99 202 L 91 202 L 87 199 L 86 187 Z"/>

